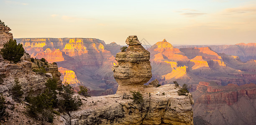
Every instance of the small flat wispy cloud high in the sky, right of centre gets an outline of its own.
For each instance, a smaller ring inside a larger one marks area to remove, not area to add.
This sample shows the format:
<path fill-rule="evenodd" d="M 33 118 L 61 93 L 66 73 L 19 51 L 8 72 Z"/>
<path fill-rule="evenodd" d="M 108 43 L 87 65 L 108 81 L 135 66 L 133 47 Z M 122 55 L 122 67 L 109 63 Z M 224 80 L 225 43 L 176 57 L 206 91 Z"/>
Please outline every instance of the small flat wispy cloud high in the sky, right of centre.
<path fill-rule="evenodd" d="M 180 15 L 184 15 L 186 17 L 196 17 L 196 16 L 207 14 L 207 13 L 200 13 L 200 11 L 198 10 L 189 9 L 189 8 L 185 8 L 185 9 L 174 11 L 174 12 L 180 13 Z"/>

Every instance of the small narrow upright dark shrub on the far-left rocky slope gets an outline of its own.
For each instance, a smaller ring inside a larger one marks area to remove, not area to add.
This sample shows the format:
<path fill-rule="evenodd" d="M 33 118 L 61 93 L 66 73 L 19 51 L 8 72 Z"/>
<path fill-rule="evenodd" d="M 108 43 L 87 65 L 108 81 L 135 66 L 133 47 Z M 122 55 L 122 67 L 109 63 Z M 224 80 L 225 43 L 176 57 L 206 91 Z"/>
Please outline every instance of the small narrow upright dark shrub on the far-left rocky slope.
<path fill-rule="evenodd" d="M 15 82 L 15 84 L 13 85 L 13 87 L 11 89 L 11 92 L 13 95 L 13 100 L 15 100 L 16 102 L 21 102 L 21 98 L 22 98 L 22 95 L 24 94 L 24 92 L 22 91 L 22 87 L 17 78 L 15 78 L 14 82 Z"/>

